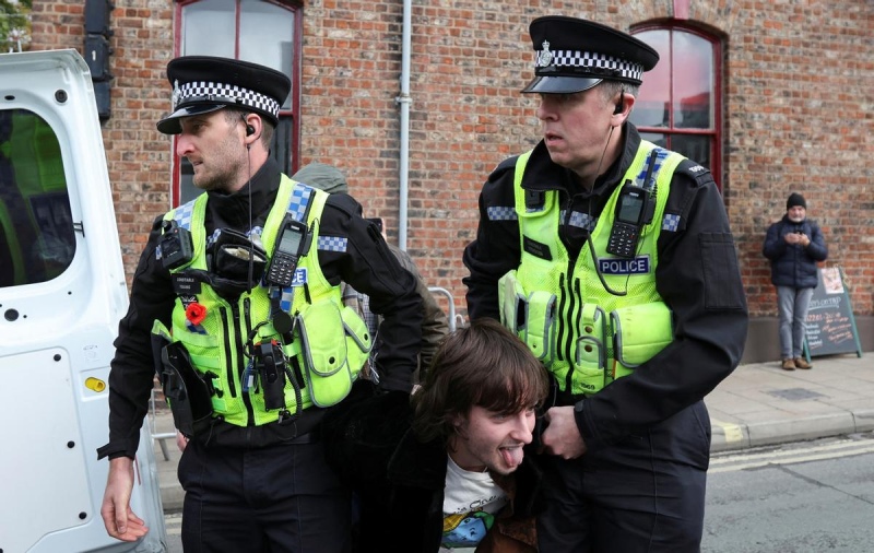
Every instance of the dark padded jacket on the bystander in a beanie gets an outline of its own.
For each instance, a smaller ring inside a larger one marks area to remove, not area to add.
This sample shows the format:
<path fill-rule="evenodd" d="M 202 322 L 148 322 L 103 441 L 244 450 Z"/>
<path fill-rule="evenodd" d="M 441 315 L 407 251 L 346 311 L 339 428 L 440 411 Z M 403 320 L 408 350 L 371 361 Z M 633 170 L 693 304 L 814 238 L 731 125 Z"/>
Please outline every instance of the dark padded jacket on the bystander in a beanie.
<path fill-rule="evenodd" d="M 792 233 L 806 234 L 811 244 L 806 248 L 800 244 L 788 244 L 784 236 Z M 761 255 L 771 260 L 771 282 L 775 286 L 815 289 L 819 282 L 816 262 L 826 260 L 828 247 L 815 221 L 805 219 L 801 223 L 793 223 L 783 215 L 783 219 L 768 227 Z"/>

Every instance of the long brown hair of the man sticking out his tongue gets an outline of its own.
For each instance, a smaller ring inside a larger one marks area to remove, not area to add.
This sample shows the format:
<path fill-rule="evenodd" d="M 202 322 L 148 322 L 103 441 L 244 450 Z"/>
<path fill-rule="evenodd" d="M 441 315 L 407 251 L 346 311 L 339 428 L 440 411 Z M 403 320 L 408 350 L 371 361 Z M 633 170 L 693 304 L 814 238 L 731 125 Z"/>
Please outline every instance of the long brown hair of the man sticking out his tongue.
<path fill-rule="evenodd" d="M 528 346 L 493 319 L 446 337 L 422 389 L 413 395 L 413 432 L 422 442 L 452 432 L 452 417 L 474 405 L 513 414 L 546 399 L 546 370 Z"/>

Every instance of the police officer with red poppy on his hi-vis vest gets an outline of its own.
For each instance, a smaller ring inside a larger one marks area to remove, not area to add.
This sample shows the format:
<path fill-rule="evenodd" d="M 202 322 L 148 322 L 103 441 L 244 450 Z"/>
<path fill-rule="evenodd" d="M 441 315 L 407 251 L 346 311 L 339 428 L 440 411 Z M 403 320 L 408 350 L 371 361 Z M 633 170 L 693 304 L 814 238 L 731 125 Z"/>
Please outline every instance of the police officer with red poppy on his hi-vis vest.
<path fill-rule="evenodd" d="M 130 509 L 133 456 L 155 366 L 190 438 L 179 462 L 186 551 L 349 551 L 350 493 L 326 466 L 323 409 L 341 402 L 370 346 L 340 284 L 383 316 L 377 370 L 409 395 L 420 344 L 413 276 L 361 205 L 295 183 L 270 155 L 288 78 L 239 60 L 167 66 L 158 121 L 205 191 L 155 220 L 119 325 L 109 375 L 110 536 L 147 529 Z M 153 354 L 158 361 L 153 364 Z"/>

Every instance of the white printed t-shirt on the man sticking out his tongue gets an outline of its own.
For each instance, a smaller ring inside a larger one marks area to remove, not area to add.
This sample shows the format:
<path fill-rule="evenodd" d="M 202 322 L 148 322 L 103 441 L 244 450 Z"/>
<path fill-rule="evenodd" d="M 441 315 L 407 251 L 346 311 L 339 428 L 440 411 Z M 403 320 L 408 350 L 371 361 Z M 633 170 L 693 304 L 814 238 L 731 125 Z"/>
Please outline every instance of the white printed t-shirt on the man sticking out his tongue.
<path fill-rule="evenodd" d="M 469 472 L 448 457 L 440 553 L 473 552 L 506 504 L 507 494 L 488 472 Z"/>

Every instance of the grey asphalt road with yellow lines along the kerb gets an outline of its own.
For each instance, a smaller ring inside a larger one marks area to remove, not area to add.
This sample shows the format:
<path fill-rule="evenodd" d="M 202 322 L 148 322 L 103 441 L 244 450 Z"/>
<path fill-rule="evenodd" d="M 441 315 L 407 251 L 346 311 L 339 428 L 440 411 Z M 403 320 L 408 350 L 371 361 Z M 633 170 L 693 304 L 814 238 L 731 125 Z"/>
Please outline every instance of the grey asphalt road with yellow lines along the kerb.
<path fill-rule="evenodd" d="M 874 551 L 874 433 L 714 454 L 707 494 L 702 553 Z"/>

